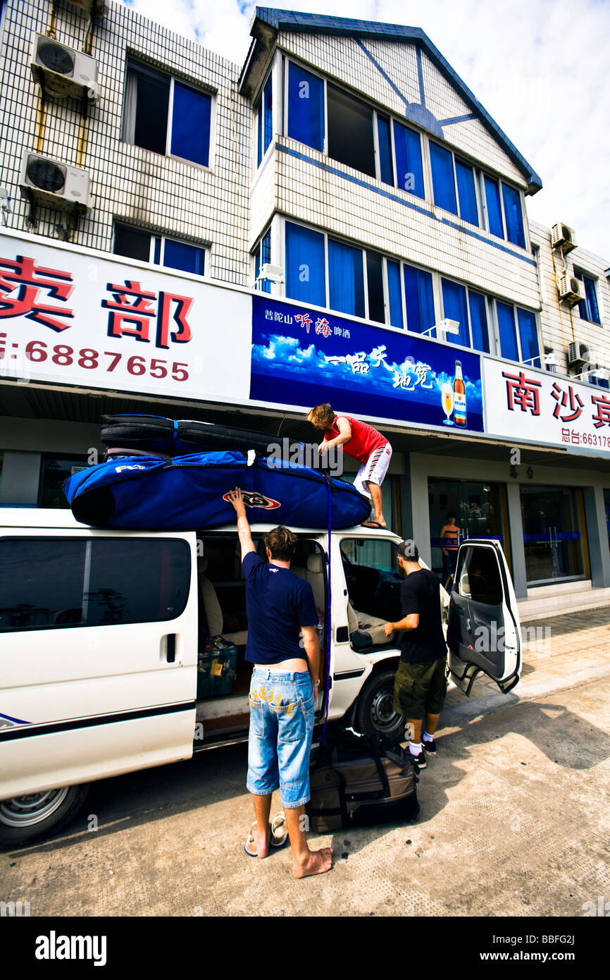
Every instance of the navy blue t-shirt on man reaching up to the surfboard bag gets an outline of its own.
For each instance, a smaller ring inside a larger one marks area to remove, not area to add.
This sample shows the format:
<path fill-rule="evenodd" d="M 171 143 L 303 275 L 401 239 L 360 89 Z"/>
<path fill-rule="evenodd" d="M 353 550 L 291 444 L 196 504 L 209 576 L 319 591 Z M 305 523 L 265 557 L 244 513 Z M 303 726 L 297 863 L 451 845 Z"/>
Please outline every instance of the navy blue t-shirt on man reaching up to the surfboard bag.
<path fill-rule="evenodd" d="M 281 663 L 304 657 L 299 646 L 302 626 L 317 626 L 313 591 L 289 568 L 279 568 L 249 552 L 242 562 L 246 575 L 248 643 L 246 660 Z"/>

